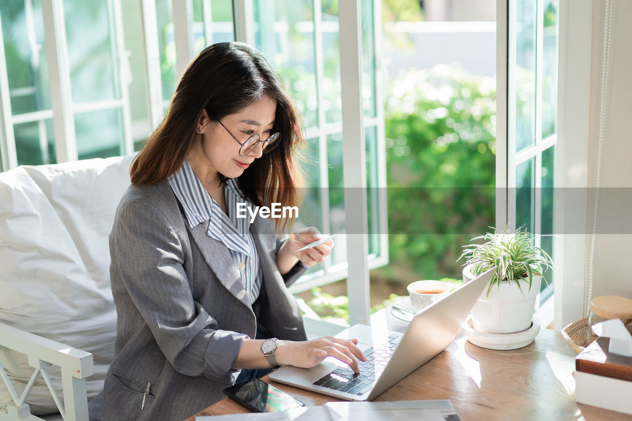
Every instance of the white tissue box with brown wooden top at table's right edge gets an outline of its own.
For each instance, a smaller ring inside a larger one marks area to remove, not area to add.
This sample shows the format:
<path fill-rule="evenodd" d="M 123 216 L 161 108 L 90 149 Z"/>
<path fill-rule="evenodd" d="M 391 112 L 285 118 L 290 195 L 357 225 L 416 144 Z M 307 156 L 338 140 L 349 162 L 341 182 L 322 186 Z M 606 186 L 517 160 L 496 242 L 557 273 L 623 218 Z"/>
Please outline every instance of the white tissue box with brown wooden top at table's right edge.
<path fill-rule="evenodd" d="M 632 415 L 632 357 L 608 351 L 597 338 L 575 358 L 575 400 Z"/>

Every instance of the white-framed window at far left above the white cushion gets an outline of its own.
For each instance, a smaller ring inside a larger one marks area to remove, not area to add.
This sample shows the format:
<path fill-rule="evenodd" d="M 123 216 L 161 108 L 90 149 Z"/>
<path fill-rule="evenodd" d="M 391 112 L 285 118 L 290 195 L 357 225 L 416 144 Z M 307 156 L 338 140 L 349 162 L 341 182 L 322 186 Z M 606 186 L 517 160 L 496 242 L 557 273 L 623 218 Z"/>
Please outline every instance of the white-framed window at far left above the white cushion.
<path fill-rule="evenodd" d="M 120 6 L 27 0 L 3 8 L 3 169 L 131 152 Z"/>

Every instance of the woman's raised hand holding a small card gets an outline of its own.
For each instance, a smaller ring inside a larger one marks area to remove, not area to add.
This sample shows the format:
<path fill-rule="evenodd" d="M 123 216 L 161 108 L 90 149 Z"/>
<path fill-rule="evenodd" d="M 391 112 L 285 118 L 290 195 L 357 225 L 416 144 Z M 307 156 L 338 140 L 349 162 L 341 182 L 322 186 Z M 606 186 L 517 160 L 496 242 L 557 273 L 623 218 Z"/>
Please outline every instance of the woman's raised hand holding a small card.
<path fill-rule="evenodd" d="M 331 253 L 331 248 L 334 247 L 334 240 L 328 240 L 321 245 L 299 252 L 298 250 L 306 245 L 324 238 L 324 235 L 313 226 L 297 231 L 293 237 L 294 238 L 288 238 L 288 240 L 283 243 L 277 255 L 277 265 L 279 266 L 281 274 L 287 273 L 298 260 L 308 266 L 324 262 L 325 257 Z"/>

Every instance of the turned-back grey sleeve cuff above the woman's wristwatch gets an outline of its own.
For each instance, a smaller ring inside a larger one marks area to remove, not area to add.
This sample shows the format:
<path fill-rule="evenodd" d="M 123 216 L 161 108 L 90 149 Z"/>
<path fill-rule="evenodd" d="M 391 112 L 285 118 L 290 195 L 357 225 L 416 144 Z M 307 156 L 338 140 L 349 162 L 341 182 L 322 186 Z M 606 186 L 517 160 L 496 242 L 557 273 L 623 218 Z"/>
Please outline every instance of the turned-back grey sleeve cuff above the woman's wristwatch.
<path fill-rule="evenodd" d="M 241 348 L 241 341 L 248 335 L 233 331 L 215 331 L 204 355 L 204 375 L 212 381 L 234 384 L 241 369 L 233 369 L 233 363 Z"/>

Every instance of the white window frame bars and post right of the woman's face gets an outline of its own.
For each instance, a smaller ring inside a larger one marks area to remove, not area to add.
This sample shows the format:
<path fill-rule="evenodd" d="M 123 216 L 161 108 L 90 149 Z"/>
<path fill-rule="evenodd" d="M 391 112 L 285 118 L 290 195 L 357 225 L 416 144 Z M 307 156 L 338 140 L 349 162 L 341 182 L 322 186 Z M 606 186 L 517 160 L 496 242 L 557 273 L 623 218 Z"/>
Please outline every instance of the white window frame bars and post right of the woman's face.
<path fill-rule="evenodd" d="M 387 200 L 386 200 L 386 149 L 384 147 L 384 73 L 380 66 L 381 51 L 381 3 L 374 1 L 374 48 L 376 57 L 375 66 L 375 101 L 377 104 L 376 116 L 367 118 L 363 114 L 360 99 L 362 92 L 362 38 L 360 32 L 360 15 L 356 18 L 356 13 L 361 13 L 360 2 L 348 1 L 339 4 L 339 21 L 344 21 L 345 25 L 339 25 L 340 31 L 340 54 L 341 54 L 341 85 L 343 87 L 343 123 L 326 123 L 325 112 L 322 107 L 318 109 L 318 126 L 307 130 L 307 138 L 319 139 L 319 175 L 323 185 L 328 185 L 328 162 L 327 162 L 327 137 L 334 133 L 343 133 L 345 142 L 343 143 L 343 170 L 344 186 L 366 188 L 365 171 L 365 140 L 364 134 L 367 128 L 374 127 L 377 131 L 377 200 L 373 203 L 378 209 L 377 235 L 380 236 L 380 249 L 377 254 L 368 254 L 367 235 L 347 235 L 347 262 L 332 265 L 331 259 L 326 259 L 323 269 L 312 274 L 303 276 L 299 282 L 294 284 L 290 290 L 293 293 L 308 291 L 317 286 L 333 283 L 341 279 L 347 279 L 347 294 L 349 296 L 349 323 L 354 324 L 368 317 L 369 311 L 369 277 L 368 271 L 376 267 L 388 264 L 388 235 L 387 235 Z M 321 21 L 321 3 L 319 0 L 313 3 L 315 52 L 316 52 L 316 78 L 317 86 L 322 86 L 323 59 L 322 59 L 322 32 L 324 31 Z M 351 22 L 357 21 L 357 25 Z M 360 70 L 358 73 L 358 66 Z M 358 85 L 359 84 L 359 85 Z M 351 89 L 347 89 L 351 87 Z M 359 89 L 359 90 L 358 90 Z M 322 89 L 318 91 L 319 104 L 322 103 Z M 352 111 L 353 110 L 353 111 Z M 361 118 L 360 118 L 360 117 Z M 351 134 L 349 134 L 351 133 Z M 362 140 L 358 137 L 361 135 Z M 349 140 L 351 139 L 351 140 Z M 350 173 L 350 174 L 349 174 Z M 321 221 L 323 226 L 329 226 L 329 199 L 327 188 L 320 188 L 322 194 Z M 367 196 L 355 197 L 360 189 L 345 189 L 344 202 L 346 214 L 346 229 L 351 233 L 367 232 L 366 203 Z M 350 204 L 350 205 L 349 205 Z M 361 216 L 361 218 L 358 218 Z M 350 221 L 353 221 L 350 223 Z M 353 226 L 356 223 L 357 226 Z M 353 259 L 353 260 L 352 260 Z M 349 261 L 353 261 L 352 267 L 362 267 L 362 271 L 352 271 L 349 273 Z"/>

